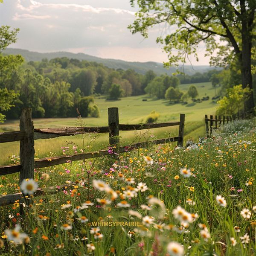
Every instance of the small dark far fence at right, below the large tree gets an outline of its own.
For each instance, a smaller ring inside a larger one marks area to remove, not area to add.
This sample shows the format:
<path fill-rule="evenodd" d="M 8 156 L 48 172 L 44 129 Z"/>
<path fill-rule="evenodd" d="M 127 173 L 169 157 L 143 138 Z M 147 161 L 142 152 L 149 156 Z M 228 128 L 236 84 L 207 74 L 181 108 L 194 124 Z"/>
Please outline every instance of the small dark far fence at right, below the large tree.
<path fill-rule="evenodd" d="M 224 124 L 225 122 L 228 123 L 237 119 L 252 118 L 253 116 L 253 111 L 243 112 L 233 116 L 215 116 L 215 118 L 213 118 L 213 115 L 210 115 L 210 118 L 208 118 L 208 115 L 205 115 L 206 135 L 207 137 L 212 137 L 212 130 L 219 128 L 220 125 Z"/>

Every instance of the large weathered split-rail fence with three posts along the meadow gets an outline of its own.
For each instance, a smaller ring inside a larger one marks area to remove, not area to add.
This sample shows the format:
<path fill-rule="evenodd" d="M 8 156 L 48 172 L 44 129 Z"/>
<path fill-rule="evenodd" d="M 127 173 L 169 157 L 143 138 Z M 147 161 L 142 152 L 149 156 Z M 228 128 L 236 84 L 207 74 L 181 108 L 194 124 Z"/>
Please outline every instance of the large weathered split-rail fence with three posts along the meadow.
<path fill-rule="evenodd" d="M 20 131 L 0 133 L 0 143 L 20 141 L 20 164 L 0 166 L 0 176 L 20 172 L 21 182 L 23 179 L 33 179 L 34 169 L 67 163 L 67 160 L 77 161 L 109 155 L 108 150 L 100 150 L 95 152 L 64 155 L 58 157 L 47 157 L 35 160 L 34 141 L 38 139 L 49 139 L 60 136 L 70 136 L 87 133 L 109 133 L 109 145 L 113 147 L 113 154 L 111 155 L 118 158 L 120 153 L 131 151 L 134 148 L 143 147 L 148 143 L 160 144 L 177 141 L 177 145 L 182 147 L 184 122 L 185 114 L 180 114 L 180 121 L 177 122 L 122 125 L 119 124 L 118 108 L 108 108 L 108 126 L 35 129 L 32 121 L 32 109 L 22 108 L 20 116 Z M 134 131 L 169 126 L 179 126 L 179 134 L 177 137 L 151 140 L 122 147 L 119 145 L 119 131 Z M 53 191 L 53 193 L 55 193 L 55 191 Z M 41 189 L 38 189 L 38 191 L 35 193 L 35 195 L 42 194 L 43 191 Z M 13 204 L 18 199 L 22 199 L 21 193 L 0 196 L 0 206 Z"/>

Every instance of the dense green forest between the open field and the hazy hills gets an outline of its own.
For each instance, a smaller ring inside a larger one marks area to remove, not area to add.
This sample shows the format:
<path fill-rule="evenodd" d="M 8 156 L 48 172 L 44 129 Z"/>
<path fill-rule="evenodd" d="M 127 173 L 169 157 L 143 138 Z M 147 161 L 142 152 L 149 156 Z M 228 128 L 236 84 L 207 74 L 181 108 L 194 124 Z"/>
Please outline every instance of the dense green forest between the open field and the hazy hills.
<path fill-rule="evenodd" d="M 15 108 L 3 114 L 8 119 L 17 119 L 21 108 L 27 107 L 33 109 L 33 118 L 76 117 L 78 108 L 83 117 L 98 117 L 94 96 L 105 95 L 107 99 L 116 100 L 148 93 L 163 99 L 170 87 L 179 91 L 179 84 L 212 81 L 213 86 L 222 83 L 225 87 L 226 74 L 226 70 L 209 70 L 192 76 L 157 76 L 148 70 L 143 75 L 131 69 L 114 70 L 96 62 L 67 57 L 24 61 L 1 72 L 0 88 L 13 90 L 15 94 Z M 173 95 L 176 95 L 173 99 L 180 100 L 183 93 Z M 169 99 L 172 100 L 172 96 Z"/>

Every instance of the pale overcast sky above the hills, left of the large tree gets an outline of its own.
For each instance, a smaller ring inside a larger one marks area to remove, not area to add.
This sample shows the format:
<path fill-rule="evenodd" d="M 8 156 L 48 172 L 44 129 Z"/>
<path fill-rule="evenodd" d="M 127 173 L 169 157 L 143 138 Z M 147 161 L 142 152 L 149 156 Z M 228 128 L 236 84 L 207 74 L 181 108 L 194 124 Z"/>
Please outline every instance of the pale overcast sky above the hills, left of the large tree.
<path fill-rule="evenodd" d="M 167 61 L 155 39 L 163 33 L 154 27 L 147 39 L 132 35 L 127 26 L 135 19 L 129 0 L 4 0 L 0 25 L 20 28 L 18 41 L 9 47 L 38 52 L 83 52 L 125 61 Z M 199 62 L 208 65 L 204 47 Z"/>

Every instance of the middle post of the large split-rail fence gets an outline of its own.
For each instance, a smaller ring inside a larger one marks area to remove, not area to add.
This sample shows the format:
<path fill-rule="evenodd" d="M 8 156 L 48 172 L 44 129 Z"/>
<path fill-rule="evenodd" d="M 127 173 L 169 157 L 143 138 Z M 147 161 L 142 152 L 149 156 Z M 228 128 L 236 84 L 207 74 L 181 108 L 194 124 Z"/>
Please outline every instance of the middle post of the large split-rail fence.
<path fill-rule="evenodd" d="M 108 108 L 109 145 L 113 147 L 113 157 L 119 155 L 119 115 L 118 108 Z"/>

